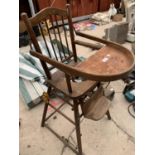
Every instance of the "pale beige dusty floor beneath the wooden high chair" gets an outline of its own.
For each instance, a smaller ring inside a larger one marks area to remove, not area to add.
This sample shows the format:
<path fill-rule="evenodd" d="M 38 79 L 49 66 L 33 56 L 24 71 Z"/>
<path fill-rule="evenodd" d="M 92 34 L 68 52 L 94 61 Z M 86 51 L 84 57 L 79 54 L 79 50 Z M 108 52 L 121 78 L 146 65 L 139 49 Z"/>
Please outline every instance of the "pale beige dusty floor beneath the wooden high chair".
<path fill-rule="evenodd" d="M 97 26 L 91 34 L 98 37 L 104 36 L 105 26 Z M 90 33 L 87 31 L 86 33 Z M 125 44 L 130 48 L 130 44 Z M 27 48 L 21 48 L 21 50 Z M 83 47 L 78 46 L 78 51 L 83 51 Z M 88 54 L 92 54 L 87 49 Z M 78 53 L 82 55 L 83 53 Z M 111 104 L 110 112 L 112 120 L 103 118 L 100 121 L 84 119 L 81 123 L 83 152 L 85 155 L 134 155 L 135 152 L 135 120 L 128 113 L 129 103 L 125 100 L 122 90 L 125 86 L 121 80 L 111 82 L 116 92 Z M 28 110 L 20 99 L 20 155 L 74 155 L 69 148 L 64 145 L 46 128 L 40 127 L 43 104 Z M 64 112 L 73 116 L 68 106 L 64 107 Z M 60 134 L 68 137 L 73 130 L 72 124 L 65 121 L 60 115 L 57 119 L 51 118 L 49 125 Z M 75 131 L 71 134 L 71 142 L 74 144 Z M 63 149 L 64 148 L 64 149 Z M 62 153 L 63 150 L 63 153 Z"/>

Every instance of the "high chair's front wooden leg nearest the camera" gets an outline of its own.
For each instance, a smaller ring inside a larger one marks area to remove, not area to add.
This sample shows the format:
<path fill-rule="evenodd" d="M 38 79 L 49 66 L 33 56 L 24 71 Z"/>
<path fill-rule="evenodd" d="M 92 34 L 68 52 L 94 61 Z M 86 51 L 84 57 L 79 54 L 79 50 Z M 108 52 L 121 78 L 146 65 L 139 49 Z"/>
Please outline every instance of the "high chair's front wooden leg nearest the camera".
<path fill-rule="evenodd" d="M 76 101 L 74 101 L 74 117 L 75 117 L 76 137 L 77 137 L 78 152 L 79 152 L 78 155 L 82 155 L 80 115 L 79 115 L 78 103 Z"/>

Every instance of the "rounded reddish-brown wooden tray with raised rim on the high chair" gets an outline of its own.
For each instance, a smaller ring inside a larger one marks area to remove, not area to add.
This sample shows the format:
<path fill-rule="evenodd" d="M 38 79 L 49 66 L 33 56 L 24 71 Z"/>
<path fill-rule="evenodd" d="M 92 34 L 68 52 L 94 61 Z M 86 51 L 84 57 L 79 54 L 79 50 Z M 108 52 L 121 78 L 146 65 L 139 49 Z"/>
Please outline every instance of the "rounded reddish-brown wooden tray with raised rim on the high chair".
<path fill-rule="evenodd" d="M 134 55 L 120 45 L 107 45 L 76 68 L 93 75 L 99 81 L 113 81 L 125 77 L 134 67 Z"/>

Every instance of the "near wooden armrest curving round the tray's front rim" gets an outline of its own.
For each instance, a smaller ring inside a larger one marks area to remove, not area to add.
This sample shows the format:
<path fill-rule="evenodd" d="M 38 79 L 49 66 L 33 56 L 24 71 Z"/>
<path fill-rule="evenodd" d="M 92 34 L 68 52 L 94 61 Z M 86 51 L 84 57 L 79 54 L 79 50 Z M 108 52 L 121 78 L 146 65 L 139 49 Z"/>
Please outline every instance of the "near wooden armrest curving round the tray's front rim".
<path fill-rule="evenodd" d="M 82 77 L 85 78 L 87 80 L 94 80 L 94 81 L 114 81 L 117 79 L 120 79 L 122 77 L 125 77 L 129 72 L 131 72 L 133 66 L 134 66 L 134 56 L 131 52 L 129 52 L 126 48 L 125 50 L 129 53 L 129 56 L 131 57 L 132 63 L 131 65 L 123 72 L 118 72 L 118 74 L 114 73 L 114 74 L 100 74 L 100 73 L 96 73 L 96 72 L 87 72 L 87 71 L 82 71 L 80 70 L 80 68 L 77 67 L 72 67 L 66 64 L 63 64 L 61 62 L 57 62 L 53 59 L 48 58 L 47 56 L 44 56 L 38 52 L 34 52 L 32 50 L 30 50 L 30 53 L 39 58 L 40 61 L 43 63 L 48 63 L 51 64 L 53 66 L 55 66 L 56 68 L 58 68 L 59 70 L 63 71 L 64 73 L 71 75 L 71 76 L 77 76 L 77 77 Z M 88 65 L 88 63 L 87 63 Z"/>

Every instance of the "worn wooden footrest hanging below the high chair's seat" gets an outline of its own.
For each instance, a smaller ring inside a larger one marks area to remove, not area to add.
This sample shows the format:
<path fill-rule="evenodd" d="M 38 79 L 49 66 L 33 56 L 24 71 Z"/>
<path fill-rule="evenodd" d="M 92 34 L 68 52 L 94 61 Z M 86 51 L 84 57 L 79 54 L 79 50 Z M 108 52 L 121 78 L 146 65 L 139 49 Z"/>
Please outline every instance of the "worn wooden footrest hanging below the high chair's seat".
<path fill-rule="evenodd" d="M 103 88 L 99 88 L 82 106 L 84 117 L 92 120 L 100 120 L 110 107 L 110 101 L 103 96 Z"/>

